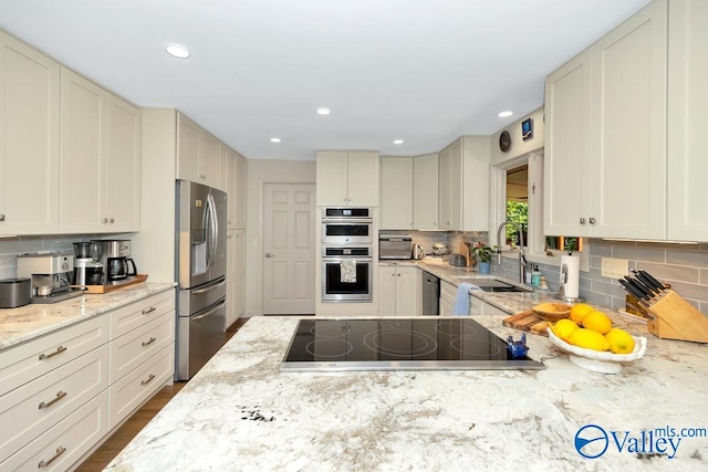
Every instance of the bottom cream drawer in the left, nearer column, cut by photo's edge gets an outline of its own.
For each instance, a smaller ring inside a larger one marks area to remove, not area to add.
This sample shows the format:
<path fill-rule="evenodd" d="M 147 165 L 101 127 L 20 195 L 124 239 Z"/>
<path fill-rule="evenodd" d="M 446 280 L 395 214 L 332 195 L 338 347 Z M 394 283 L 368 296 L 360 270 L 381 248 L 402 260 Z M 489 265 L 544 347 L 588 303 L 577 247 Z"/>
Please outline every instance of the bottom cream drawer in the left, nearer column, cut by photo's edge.
<path fill-rule="evenodd" d="M 1 462 L 0 470 L 65 471 L 107 432 L 108 390 L 104 390 L 7 461 Z"/>

